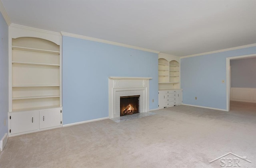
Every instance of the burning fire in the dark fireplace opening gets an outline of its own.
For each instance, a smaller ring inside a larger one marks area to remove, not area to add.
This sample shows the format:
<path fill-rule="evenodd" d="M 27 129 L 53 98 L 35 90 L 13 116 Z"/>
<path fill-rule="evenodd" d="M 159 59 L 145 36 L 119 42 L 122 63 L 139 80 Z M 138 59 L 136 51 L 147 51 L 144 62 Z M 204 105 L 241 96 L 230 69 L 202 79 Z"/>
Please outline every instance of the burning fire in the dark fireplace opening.
<path fill-rule="evenodd" d="M 120 97 L 120 116 L 139 113 L 140 95 Z"/>

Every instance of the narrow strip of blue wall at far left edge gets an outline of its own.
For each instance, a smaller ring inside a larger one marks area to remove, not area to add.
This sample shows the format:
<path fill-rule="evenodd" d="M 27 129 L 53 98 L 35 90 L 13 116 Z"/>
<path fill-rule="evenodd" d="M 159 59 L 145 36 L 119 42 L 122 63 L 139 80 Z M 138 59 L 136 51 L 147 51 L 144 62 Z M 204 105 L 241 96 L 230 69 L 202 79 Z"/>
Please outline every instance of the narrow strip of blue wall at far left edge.
<path fill-rule="evenodd" d="M 0 13 L 0 139 L 8 131 L 8 25 Z M 6 125 L 4 126 L 4 119 Z"/>

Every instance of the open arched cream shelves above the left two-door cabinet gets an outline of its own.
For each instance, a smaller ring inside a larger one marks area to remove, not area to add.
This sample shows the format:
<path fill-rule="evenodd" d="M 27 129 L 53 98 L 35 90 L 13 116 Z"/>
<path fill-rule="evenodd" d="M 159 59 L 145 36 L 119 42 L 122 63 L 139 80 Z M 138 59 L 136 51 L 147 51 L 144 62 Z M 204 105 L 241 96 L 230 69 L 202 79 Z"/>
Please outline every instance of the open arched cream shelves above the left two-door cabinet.
<path fill-rule="evenodd" d="M 60 107 L 60 47 L 32 37 L 12 39 L 12 111 L 48 106 Z"/>

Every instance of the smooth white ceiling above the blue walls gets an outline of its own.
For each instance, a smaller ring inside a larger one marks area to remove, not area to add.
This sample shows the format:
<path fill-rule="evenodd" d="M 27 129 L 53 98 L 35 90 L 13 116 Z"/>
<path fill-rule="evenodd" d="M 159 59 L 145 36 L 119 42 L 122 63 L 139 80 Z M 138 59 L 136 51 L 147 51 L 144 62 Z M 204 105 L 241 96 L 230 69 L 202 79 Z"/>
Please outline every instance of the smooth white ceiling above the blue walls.
<path fill-rule="evenodd" d="M 256 43 L 256 0 L 2 0 L 12 23 L 186 56 Z"/>

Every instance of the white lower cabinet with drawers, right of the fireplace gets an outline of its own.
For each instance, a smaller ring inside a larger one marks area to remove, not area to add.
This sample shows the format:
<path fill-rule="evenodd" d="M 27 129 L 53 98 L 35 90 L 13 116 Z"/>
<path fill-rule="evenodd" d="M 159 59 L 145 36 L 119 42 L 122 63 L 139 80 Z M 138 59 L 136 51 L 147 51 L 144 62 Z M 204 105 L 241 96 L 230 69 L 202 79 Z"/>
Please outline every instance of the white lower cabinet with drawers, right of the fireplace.
<path fill-rule="evenodd" d="M 159 90 L 158 107 L 171 107 L 182 104 L 182 89 Z"/>

